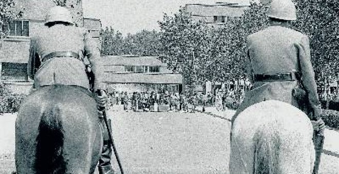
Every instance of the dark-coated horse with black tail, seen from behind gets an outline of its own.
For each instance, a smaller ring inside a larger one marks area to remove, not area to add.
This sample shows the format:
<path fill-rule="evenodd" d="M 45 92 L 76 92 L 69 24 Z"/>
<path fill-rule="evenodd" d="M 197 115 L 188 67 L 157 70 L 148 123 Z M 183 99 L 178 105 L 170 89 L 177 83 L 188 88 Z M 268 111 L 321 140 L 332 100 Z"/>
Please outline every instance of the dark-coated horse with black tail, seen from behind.
<path fill-rule="evenodd" d="M 96 101 L 85 89 L 37 89 L 16 118 L 16 172 L 93 173 L 101 155 L 101 132 Z"/>

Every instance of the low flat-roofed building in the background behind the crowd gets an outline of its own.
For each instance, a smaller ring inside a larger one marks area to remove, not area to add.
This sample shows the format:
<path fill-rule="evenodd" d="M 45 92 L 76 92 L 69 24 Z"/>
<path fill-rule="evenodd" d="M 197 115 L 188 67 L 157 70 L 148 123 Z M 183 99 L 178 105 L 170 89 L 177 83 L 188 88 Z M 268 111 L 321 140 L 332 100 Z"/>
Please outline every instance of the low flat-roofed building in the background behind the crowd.
<path fill-rule="evenodd" d="M 101 61 L 112 91 L 182 90 L 181 74 L 168 70 L 157 56 L 102 56 Z"/>

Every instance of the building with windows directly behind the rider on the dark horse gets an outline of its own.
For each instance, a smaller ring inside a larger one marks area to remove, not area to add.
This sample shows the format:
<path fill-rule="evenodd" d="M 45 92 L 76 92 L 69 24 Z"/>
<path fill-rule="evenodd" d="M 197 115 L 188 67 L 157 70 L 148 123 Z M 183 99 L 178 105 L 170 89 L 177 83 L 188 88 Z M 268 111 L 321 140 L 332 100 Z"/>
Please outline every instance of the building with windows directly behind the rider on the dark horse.
<path fill-rule="evenodd" d="M 45 16 L 56 4 L 65 3 L 73 15 L 74 24 L 89 27 L 91 36 L 100 44 L 100 20 L 84 20 L 82 1 L 14 0 L 14 3 L 16 12 L 22 12 L 23 16 L 3 26 L 8 31 L 8 36 L 0 42 L 0 80 L 10 86 L 13 92 L 28 93 L 31 88 L 32 79 L 27 75 L 30 38 L 45 27 Z"/>

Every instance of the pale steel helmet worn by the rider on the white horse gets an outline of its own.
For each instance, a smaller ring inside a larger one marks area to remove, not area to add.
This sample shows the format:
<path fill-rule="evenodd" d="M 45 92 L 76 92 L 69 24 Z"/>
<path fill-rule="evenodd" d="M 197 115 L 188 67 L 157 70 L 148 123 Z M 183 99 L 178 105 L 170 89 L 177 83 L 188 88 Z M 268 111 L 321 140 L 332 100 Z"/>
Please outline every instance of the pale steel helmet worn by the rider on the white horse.
<path fill-rule="evenodd" d="M 296 20 L 295 6 L 291 0 L 273 0 L 268 16 L 283 20 Z"/>

